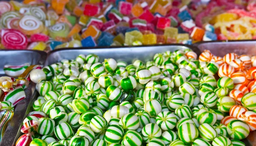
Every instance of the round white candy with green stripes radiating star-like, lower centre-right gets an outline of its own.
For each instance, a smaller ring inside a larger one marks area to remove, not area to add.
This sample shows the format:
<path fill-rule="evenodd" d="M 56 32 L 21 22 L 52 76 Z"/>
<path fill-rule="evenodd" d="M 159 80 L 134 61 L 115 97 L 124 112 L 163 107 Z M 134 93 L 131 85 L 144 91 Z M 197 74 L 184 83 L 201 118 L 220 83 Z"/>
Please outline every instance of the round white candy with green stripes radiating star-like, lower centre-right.
<path fill-rule="evenodd" d="M 177 119 L 172 112 L 160 112 L 156 117 L 157 125 L 164 131 L 175 128 Z"/>

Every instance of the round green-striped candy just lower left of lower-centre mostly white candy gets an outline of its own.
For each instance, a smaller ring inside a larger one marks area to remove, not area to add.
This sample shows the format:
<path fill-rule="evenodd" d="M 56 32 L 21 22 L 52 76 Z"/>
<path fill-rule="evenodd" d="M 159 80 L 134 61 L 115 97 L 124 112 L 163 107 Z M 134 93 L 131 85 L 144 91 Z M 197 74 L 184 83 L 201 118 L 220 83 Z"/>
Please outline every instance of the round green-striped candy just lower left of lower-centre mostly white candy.
<path fill-rule="evenodd" d="M 108 121 L 100 115 L 94 116 L 90 121 L 90 128 L 95 133 L 105 131 L 107 126 L 108 126 Z"/>

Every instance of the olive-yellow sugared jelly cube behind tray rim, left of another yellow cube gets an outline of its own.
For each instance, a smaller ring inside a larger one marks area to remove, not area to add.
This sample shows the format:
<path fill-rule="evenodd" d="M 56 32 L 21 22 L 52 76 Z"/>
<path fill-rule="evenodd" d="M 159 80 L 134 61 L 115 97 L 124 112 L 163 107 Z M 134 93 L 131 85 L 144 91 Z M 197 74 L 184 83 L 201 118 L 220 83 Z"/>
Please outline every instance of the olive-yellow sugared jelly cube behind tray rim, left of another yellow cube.
<path fill-rule="evenodd" d="M 125 33 L 125 43 L 132 45 L 134 41 L 143 42 L 143 34 L 140 31 L 134 30 Z"/>

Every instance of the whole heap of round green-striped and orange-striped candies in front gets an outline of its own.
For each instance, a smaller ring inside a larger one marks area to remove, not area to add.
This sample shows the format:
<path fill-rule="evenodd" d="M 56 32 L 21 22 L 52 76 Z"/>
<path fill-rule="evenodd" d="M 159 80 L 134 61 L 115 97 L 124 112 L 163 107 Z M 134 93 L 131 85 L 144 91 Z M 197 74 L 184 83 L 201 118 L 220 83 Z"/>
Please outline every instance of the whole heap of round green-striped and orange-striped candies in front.
<path fill-rule="evenodd" d="M 40 96 L 16 146 L 245 146 L 256 129 L 256 57 L 196 58 L 185 49 L 128 65 L 80 54 L 34 69 Z"/>

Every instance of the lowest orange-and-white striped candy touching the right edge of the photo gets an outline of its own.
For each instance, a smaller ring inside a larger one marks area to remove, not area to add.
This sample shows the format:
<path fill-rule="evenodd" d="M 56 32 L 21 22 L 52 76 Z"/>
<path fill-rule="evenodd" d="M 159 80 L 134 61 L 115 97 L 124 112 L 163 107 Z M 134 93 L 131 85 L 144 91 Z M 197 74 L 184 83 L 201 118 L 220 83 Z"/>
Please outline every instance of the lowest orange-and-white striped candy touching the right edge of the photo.
<path fill-rule="evenodd" d="M 238 118 L 248 124 L 250 131 L 256 130 L 256 113 L 252 111 L 242 112 Z"/>

